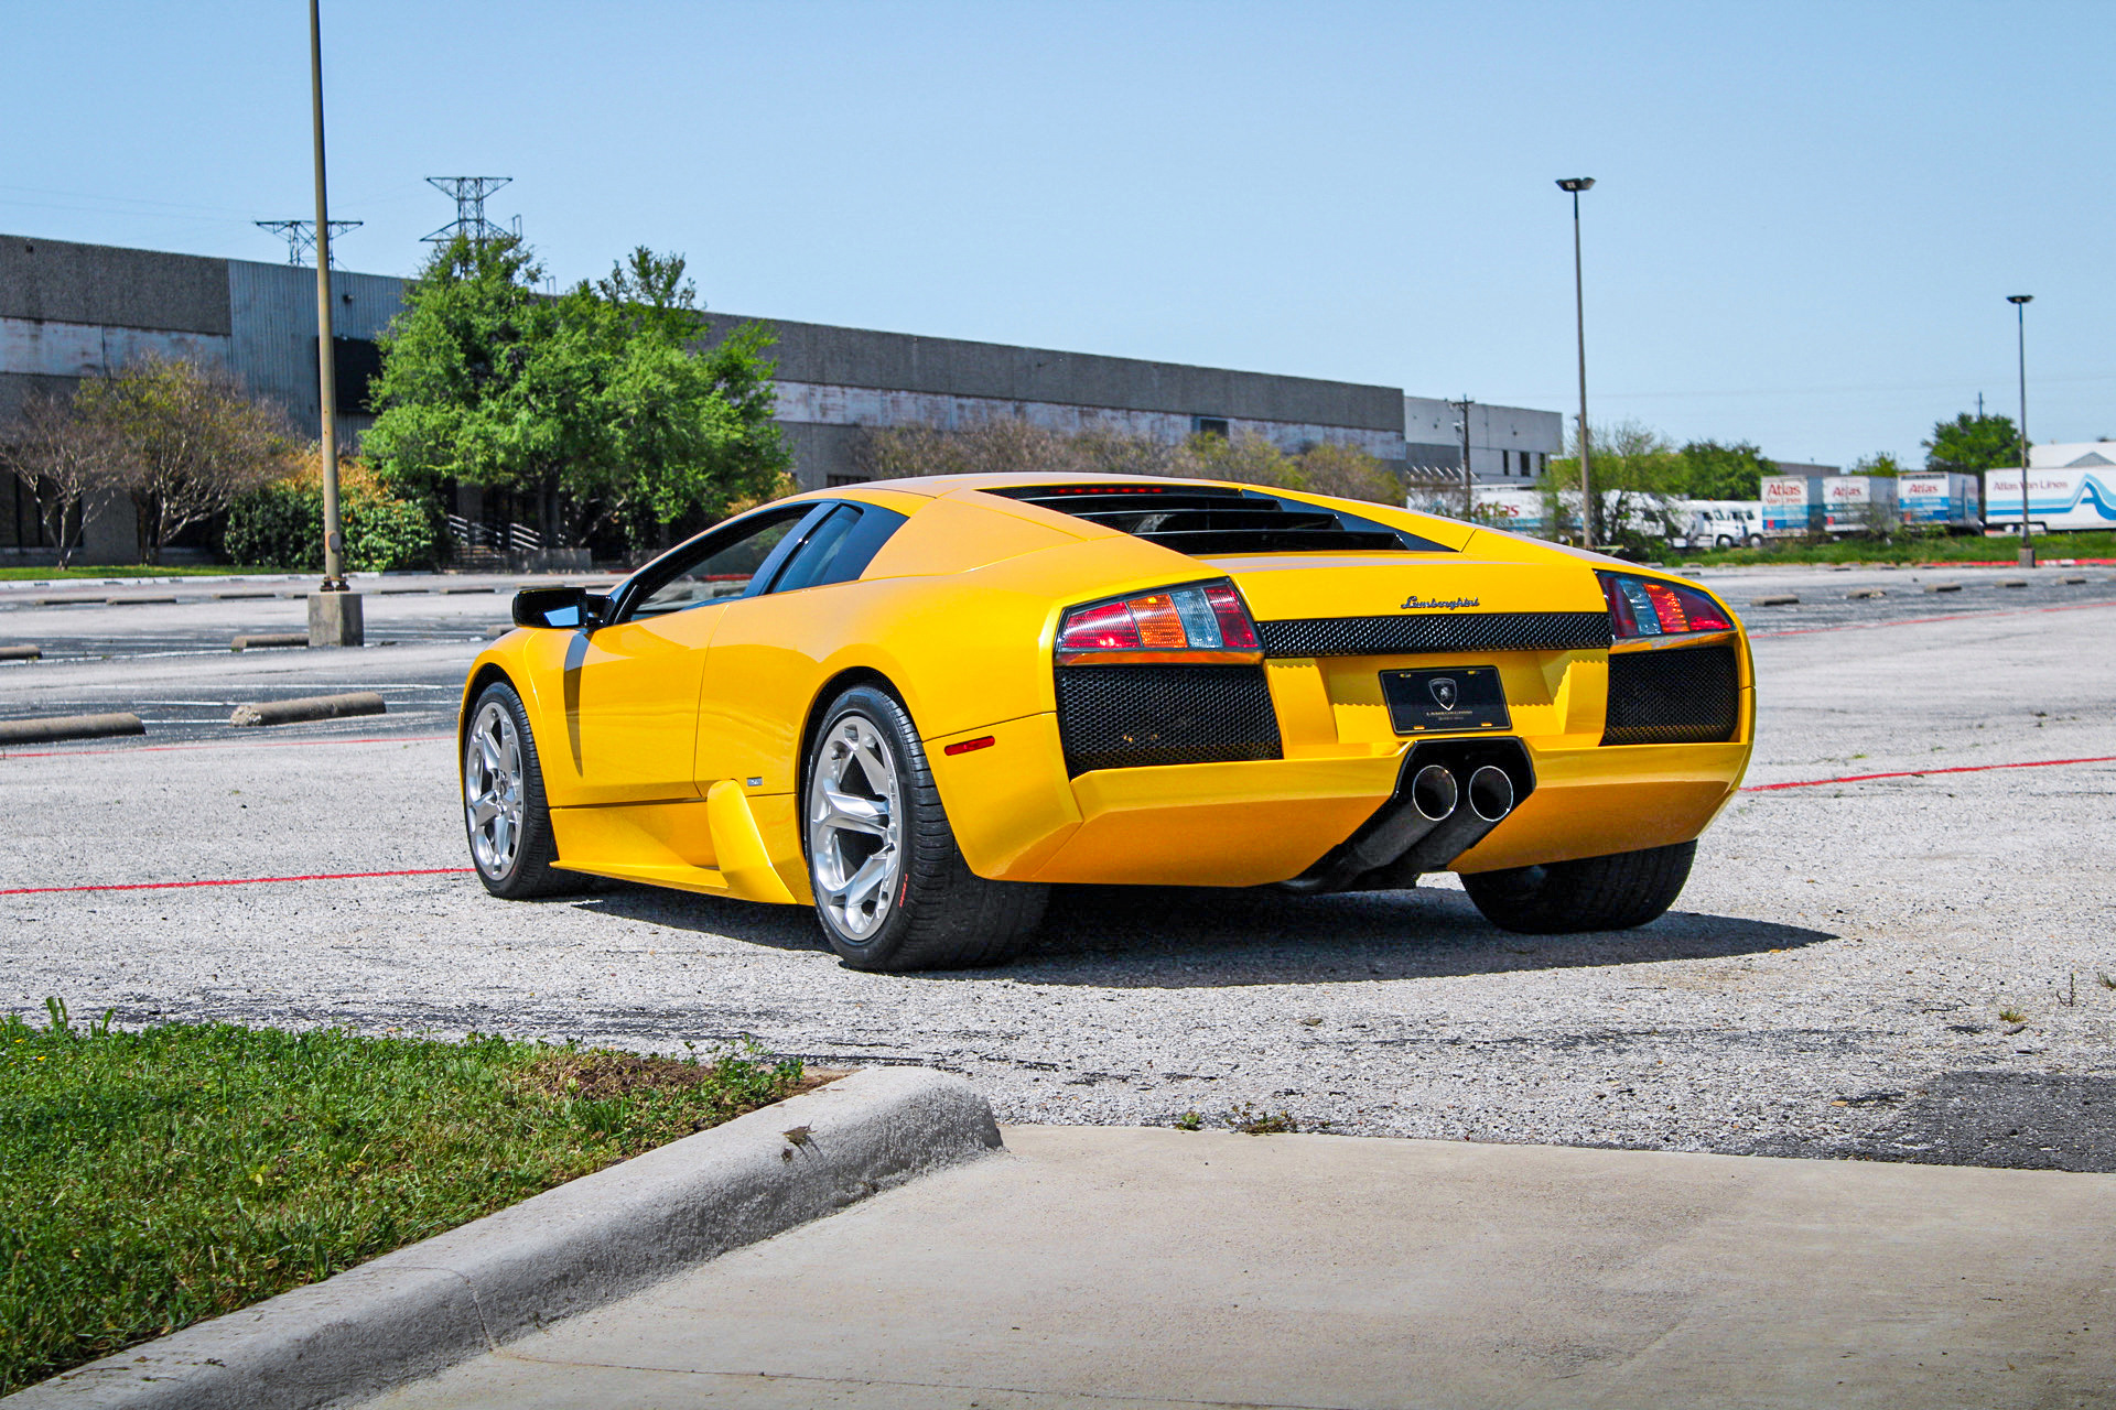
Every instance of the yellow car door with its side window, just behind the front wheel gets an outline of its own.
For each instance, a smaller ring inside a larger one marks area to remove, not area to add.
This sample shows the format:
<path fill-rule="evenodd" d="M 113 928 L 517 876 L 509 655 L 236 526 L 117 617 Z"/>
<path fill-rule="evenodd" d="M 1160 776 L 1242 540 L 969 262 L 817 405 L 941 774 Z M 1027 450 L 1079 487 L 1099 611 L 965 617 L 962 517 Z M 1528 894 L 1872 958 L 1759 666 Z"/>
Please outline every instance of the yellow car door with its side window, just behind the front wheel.
<path fill-rule="evenodd" d="M 698 797 L 692 755 L 707 647 L 732 602 L 770 581 L 802 524 L 829 505 L 758 509 L 647 564 L 612 600 L 612 621 L 565 655 L 567 793 L 580 803 Z"/>

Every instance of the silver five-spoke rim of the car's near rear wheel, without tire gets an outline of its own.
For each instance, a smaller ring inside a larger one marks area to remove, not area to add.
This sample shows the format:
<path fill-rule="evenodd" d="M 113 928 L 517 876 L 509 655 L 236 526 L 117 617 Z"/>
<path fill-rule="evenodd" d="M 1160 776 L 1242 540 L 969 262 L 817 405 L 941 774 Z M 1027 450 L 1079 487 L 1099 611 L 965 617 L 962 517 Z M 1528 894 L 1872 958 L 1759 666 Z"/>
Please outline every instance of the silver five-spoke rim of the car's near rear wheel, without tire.
<path fill-rule="evenodd" d="M 817 901 L 849 939 L 889 920 L 904 875 L 897 761 L 861 715 L 829 727 L 808 778 L 808 865 Z"/>

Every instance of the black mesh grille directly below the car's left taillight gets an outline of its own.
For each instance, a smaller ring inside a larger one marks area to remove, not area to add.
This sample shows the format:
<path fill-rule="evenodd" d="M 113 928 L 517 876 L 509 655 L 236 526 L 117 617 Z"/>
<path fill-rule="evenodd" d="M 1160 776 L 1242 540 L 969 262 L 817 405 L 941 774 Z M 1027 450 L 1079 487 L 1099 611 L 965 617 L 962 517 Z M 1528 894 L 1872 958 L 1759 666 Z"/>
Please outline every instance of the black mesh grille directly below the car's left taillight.
<path fill-rule="evenodd" d="M 1062 666 L 1066 772 L 1278 759 L 1261 666 Z"/>

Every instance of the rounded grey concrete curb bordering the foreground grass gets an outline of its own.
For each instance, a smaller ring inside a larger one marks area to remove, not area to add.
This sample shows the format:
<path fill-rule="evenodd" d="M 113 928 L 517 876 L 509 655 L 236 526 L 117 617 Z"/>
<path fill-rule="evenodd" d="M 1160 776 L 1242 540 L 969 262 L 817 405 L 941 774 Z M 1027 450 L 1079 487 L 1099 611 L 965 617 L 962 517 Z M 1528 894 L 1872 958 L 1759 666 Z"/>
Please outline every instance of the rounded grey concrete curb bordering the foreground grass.
<path fill-rule="evenodd" d="M 870 1068 L 0 1404 L 313 1410 L 370 1397 L 990 1150 L 999 1127 L 969 1082 Z"/>

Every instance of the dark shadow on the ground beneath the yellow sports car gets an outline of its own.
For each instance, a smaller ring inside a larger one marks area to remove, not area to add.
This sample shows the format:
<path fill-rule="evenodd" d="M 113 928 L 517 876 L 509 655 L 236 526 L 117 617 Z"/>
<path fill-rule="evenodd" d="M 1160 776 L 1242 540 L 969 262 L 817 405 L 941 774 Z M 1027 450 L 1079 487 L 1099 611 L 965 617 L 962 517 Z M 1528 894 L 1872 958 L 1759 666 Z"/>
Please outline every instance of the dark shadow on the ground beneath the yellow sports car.
<path fill-rule="evenodd" d="M 808 907 L 758 905 L 609 884 L 580 911 L 717 934 L 745 945 L 821 951 Z M 1445 979 L 1661 960 L 1725 960 L 1832 941 L 1826 930 L 1670 911 L 1638 930 L 1507 934 L 1458 890 L 1289 896 L 1272 890 L 1060 886 L 1018 962 L 927 970 L 916 979 L 1111 989 L 1210 989 L 1272 983 Z"/>

